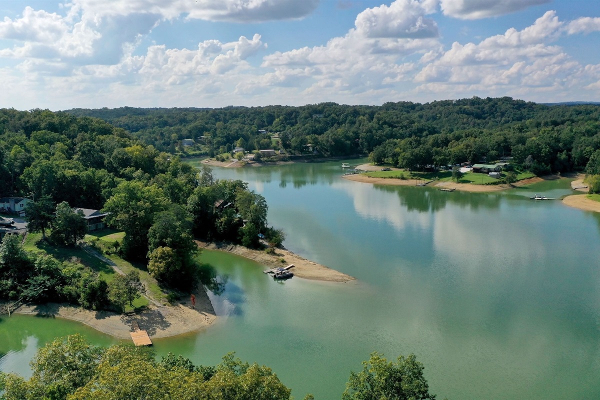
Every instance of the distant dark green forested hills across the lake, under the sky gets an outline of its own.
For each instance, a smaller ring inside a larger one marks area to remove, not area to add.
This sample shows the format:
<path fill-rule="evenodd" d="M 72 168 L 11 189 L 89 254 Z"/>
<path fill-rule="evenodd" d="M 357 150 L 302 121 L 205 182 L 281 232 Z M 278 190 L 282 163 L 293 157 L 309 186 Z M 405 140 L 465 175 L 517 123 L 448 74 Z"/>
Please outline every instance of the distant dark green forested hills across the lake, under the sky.
<path fill-rule="evenodd" d="M 279 133 L 289 154 L 373 154 L 401 167 L 456 164 L 513 157 L 538 174 L 598 169 L 600 106 L 547 106 L 509 97 L 419 104 L 223 109 L 73 109 L 101 118 L 159 151 L 175 152 L 181 139 L 202 137 L 211 157 L 243 139 L 247 150 L 271 148 Z M 267 133 L 260 132 L 266 131 Z M 308 146 L 310 145 L 310 146 Z"/>

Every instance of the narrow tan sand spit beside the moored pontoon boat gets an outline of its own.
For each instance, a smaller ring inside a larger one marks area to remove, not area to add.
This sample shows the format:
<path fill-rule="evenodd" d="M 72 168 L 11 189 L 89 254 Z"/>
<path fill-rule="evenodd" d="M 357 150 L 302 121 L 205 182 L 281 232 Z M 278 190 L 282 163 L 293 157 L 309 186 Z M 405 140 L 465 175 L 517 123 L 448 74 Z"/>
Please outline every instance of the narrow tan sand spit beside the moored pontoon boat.
<path fill-rule="evenodd" d="M 275 254 L 266 254 L 264 251 L 248 249 L 230 243 L 207 243 L 200 242 L 199 240 L 196 240 L 196 243 L 198 243 L 200 248 L 229 251 L 269 267 L 285 267 L 289 264 L 294 264 L 292 272 L 295 276 L 299 276 L 299 278 L 327 282 L 348 282 L 356 279 L 345 273 L 302 258 L 298 254 L 294 254 L 286 249 L 278 248 L 275 249 Z M 281 258 L 285 260 L 284 263 L 281 262 Z"/>

